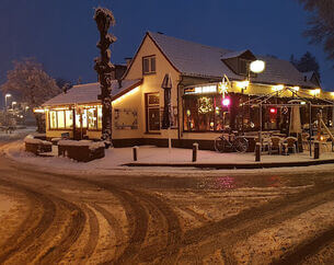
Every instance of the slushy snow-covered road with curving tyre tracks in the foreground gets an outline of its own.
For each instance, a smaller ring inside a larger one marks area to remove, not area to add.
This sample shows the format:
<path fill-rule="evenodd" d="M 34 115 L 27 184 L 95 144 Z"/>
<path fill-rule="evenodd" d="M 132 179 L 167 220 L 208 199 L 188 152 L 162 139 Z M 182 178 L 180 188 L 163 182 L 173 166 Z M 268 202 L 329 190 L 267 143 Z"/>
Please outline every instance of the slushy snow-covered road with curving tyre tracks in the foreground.
<path fill-rule="evenodd" d="M 332 172 L 68 174 L 0 157 L 0 263 L 326 263 Z"/>

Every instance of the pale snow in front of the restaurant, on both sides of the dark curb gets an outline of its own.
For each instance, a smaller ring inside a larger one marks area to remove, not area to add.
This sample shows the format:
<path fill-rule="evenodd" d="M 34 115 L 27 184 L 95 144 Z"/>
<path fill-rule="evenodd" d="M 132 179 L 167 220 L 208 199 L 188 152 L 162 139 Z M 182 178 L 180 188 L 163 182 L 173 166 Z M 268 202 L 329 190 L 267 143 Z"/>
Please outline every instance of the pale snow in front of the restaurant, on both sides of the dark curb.
<path fill-rule="evenodd" d="M 18 162 L 28 163 L 45 168 L 48 170 L 66 171 L 67 173 L 73 172 L 84 172 L 84 173 L 116 173 L 119 170 L 123 172 L 136 172 L 145 174 L 149 172 L 156 173 L 168 173 L 168 172 L 180 172 L 184 174 L 185 171 L 188 173 L 197 172 L 200 174 L 203 170 L 196 170 L 194 168 L 180 169 L 180 168 L 127 168 L 123 164 L 134 162 L 133 161 L 133 149 L 131 148 L 112 148 L 106 150 L 105 158 L 94 160 L 88 163 L 80 163 L 72 161 L 68 158 L 62 157 L 36 157 L 32 153 L 24 151 L 24 143 L 22 141 L 15 141 L 13 143 L 2 147 L 3 152 L 13 160 Z M 53 147 L 54 154 L 57 153 L 57 147 Z M 334 153 L 325 152 L 321 154 L 321 159 L 334 159 Z M 254 163 L 254 153 L 217 153 L 214 151 L 199 150 L 198 160 L 195 163 Z M 291 161 L 311 161 L 308 152 L 301 154 L 290 154 L 290 155 L 278 155 L 278 154 L 263 154 L 262 162 L 291 162 Z M 192 163 L 192 150 L 191 149 L 178 149 L 173 148 L 169 150 L 168 148 L 157 148 L 152 146 L 139 147 L 138 151 L 138 162 L 149 162 L 149 163 Z M 333 164 L 322 164 L 304 168 L 281 168 L 281 169 L 266 169 L 266 170 L 215 170 L 211 173 L 221 172 L 296 172 L 310 170 L 330 170 L 334 169 Z"/>

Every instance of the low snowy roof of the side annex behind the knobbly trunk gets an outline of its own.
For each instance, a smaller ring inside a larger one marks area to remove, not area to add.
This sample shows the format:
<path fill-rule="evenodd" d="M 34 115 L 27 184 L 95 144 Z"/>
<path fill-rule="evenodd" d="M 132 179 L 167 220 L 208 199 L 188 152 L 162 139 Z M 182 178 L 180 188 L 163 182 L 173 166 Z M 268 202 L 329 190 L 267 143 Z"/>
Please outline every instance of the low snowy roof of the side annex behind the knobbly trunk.
<path fill-rule="evenodd" d="M 112 99 L 116 100 L 123 94 L 140 85 L 142 80 L 123 80 L 122 88 L 118 87 L 118 81 L 112 81 Z M 97 95 L 101 94 L 100 83 L 87 83 L 73 85 L 67 93 L 61 93 L 49 101 L 45 102 L 43 106 L 60 106 L 72 104 L 90 104 L 100 103 Z"/>

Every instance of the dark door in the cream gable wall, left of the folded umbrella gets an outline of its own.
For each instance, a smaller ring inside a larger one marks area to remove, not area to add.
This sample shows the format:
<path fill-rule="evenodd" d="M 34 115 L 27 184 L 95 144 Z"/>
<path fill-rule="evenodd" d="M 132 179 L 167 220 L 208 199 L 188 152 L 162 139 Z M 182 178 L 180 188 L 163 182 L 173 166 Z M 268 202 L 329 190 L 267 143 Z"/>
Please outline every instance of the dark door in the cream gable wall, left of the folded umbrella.
<path fill-rule="evenodd" d="M 160 130 L 159 93 L 146 94 L 147 131 Z"/>

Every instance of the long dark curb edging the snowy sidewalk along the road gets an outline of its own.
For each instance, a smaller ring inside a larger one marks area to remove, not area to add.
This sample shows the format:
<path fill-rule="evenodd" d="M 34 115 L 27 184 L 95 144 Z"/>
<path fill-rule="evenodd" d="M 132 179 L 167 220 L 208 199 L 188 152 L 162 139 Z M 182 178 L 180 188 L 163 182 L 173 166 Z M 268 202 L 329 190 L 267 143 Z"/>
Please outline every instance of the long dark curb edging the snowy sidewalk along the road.
<path fill-rule="evenodd" d="M 274 162 L 274 163 L 126 163 L 125 166 L 163 166 L 163 168 L 198 168 L 198 169 L 216 169 L 216 170 L 254 170 L 270 168 L 288 168 L 288 166 L 309 166 L 319 164 L 332 164 L 334 159 L 301 161 L 301 162 Z"/>

